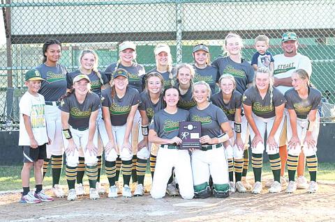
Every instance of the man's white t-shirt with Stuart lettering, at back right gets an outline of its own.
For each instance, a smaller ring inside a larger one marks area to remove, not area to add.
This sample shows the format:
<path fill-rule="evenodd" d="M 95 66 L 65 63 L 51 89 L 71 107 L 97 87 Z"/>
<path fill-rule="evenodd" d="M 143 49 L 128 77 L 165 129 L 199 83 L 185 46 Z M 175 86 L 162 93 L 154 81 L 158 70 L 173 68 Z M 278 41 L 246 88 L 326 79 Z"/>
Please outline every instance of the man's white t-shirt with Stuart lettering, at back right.
<path fill-rule="evenodd" d="M 304 69 L 311 76 L 311 60 L 307 56 L 301 55 L 299 53 L 293 57 L 286 57 L 284 54 L 278 54 L 274 56 L 274 77 L 278 79 L 291 77 L 292 72 L 297 69 Z M 277 86 L 276 88 L 284 94 L 292 87 Z"/>

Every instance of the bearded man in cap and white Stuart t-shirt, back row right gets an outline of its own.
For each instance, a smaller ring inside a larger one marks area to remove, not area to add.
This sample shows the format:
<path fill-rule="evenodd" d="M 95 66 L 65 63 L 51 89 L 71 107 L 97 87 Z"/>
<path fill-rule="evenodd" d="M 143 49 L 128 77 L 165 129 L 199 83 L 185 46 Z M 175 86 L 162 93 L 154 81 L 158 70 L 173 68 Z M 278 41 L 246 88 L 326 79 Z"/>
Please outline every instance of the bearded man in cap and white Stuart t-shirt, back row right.
<path fill-rule="evenodd" d="M 281 38 L 281 48 L 283 49 L 283 54 L 278 54 L 274 56 L 274 86 L 281 90 L 281 93 L 285 93 L 288 89 L 292 88 L 291 74 L 297 69 L 304 69 L 308 72 L 311 77 L 312 74 L 312 64 L 311 60 L 304 55 L 298 53 L 298 38 L 297 34 L 294 32 L 283 33 Z M 290 138 L 287 138 L 288 140 Z M 279 154 L 281 156 L 281 183 L 282 185 L 287 184 L 285 178 L 283 177 L 285 172 L 285 164 L 288 160 L 288 149 L 286 146 L 286 122 L 283 128 L 283 134 L 281 135 L 281 141 L 279 144 Z M 290 158 L 289 158 L 290 161 Z M 306 178 L 304 177 L 305 168 L 305 157 L 304 153 L 301 152 L 299 155 L 299 165 L 297 169 L 298 189 L 307 189 L 308 184 Z M 270 185 L 271 184 L 266 184 Z"/>

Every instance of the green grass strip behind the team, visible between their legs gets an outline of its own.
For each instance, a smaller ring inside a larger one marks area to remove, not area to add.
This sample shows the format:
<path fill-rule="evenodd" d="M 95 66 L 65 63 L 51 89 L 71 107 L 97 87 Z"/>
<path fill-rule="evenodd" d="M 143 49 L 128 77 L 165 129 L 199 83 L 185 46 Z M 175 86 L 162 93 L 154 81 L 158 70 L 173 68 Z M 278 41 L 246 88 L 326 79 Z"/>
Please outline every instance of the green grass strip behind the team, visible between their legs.
<path fill-rule="evenodd" d="M 20 190 L 22 189 L 21 184 L 21 170 L 22 166 L 0 166 L 0 191 L 8 191 L 8 190 Z M 251 166 L 249 166 L 248 175 L 253 175 Z M 149 173 L 147 168 L 147 173 Z M 265 177 L 271 176 L 271 169 L 269 163 L 263 164 L 263 175 Z M 308 171 L 306 168 L 306 177 L 308 178 Z M 318 180 L 327 180 L 327 181 L 335 181 L 335 164 L 334 163 L 319 163 L 318 167 Z M 84 176 L 84 182 L 87 182 L 87 176 Z M 103 170 L 101 175 L 101 182 L 107 182 L 107 177 L 105 175 L 105 171 Z M 34 182 L 34 174 L 31 172 L 31 180 L 30 180 L 31 188 L 35 187 Z M 61 182 L 60 184 L 66 184 L 65 180 L 65 172 L 63 168 L 63 172 L 61 173 Z M 52 186 L 52 177 L 51 177 L 51 169 L 50 166 L 48 168 L 47 175 L 43 182 L 44 187 Z"/>

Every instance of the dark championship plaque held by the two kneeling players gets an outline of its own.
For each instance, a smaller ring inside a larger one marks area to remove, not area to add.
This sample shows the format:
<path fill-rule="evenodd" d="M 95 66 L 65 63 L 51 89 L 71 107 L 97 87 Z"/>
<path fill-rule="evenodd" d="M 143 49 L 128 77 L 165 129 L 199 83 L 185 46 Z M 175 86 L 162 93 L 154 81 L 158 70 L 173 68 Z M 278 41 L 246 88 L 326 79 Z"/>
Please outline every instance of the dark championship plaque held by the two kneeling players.
<path fill-rule="evenodd" d="M 201 149 L 201 122 L 179 122 L 180 150 Z"/>

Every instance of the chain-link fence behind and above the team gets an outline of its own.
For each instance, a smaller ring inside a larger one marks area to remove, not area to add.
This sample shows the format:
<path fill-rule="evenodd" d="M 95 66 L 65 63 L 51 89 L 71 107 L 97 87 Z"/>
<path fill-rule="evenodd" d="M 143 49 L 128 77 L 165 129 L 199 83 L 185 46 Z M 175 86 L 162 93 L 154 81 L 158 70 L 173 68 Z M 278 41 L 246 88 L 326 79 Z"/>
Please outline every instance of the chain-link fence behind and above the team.
<path fill-rule="evenodd" d="M 281 34 L 295 31 L 299 52 L 312 61 L 312 82 L 328 102 L 325 116 L 335 116 L 332 0 L 1 0 L 1 8 L 7 43 L 0 45 L 0 130 L 17 127 L 24 73 L 42 62 L 42 45 L 50 38 L 62 42 L 60 62 L 69 71 L 77 69 L 85 48 L 97 52 L 104 70 L 117 61 L 117 45 L 125 40 L 135 42 L 137 63 L 150 70 L 159 42 L 170 45 L 174 65 L 193 63 L 192 48 L 199 43 L 209 45 L 214 60 L 223 54 L 223 39 L 232 31 L 244 39 L 243 56 L 251 61 L 256 36 L 267 35 L 269 51 L 281 54 Z"/>

